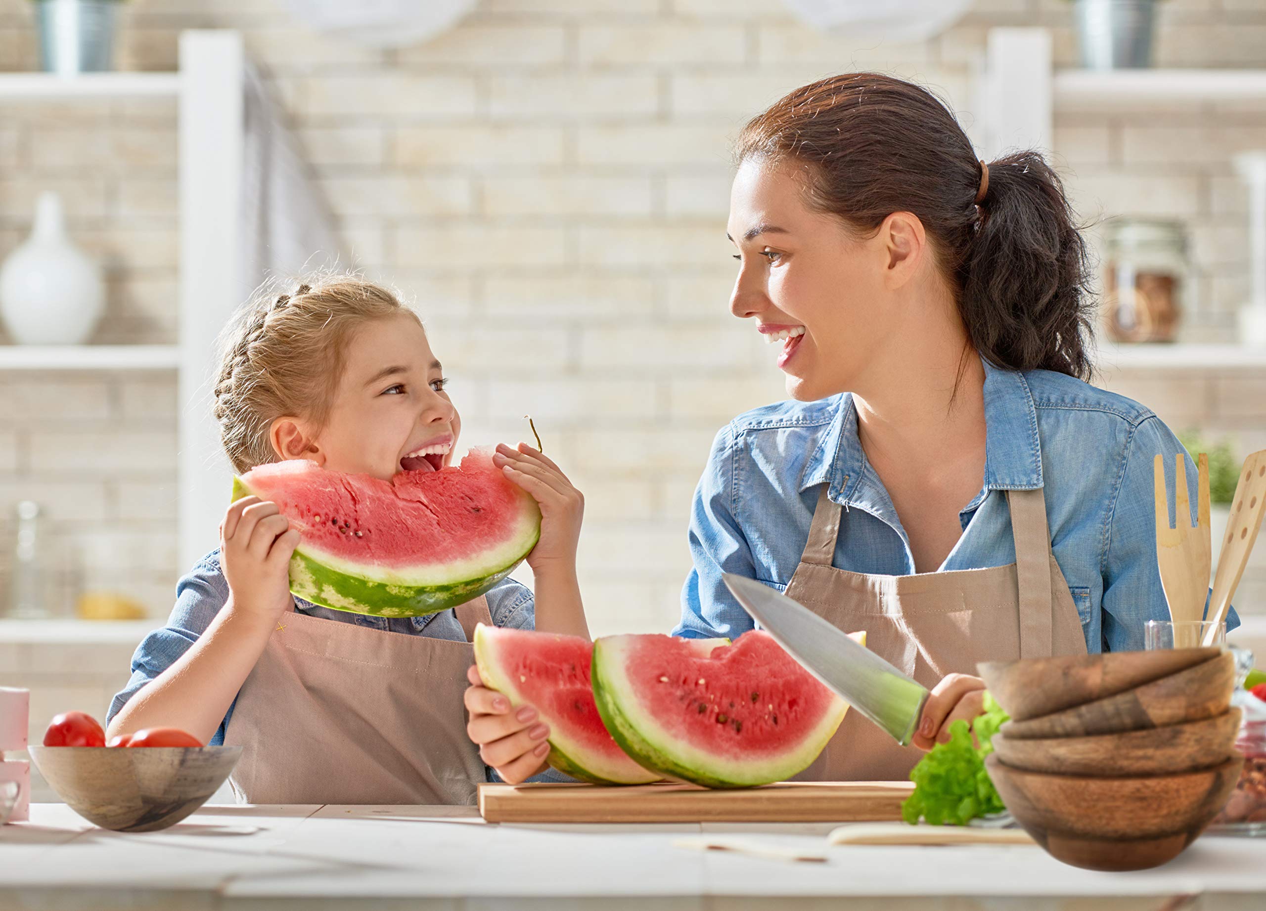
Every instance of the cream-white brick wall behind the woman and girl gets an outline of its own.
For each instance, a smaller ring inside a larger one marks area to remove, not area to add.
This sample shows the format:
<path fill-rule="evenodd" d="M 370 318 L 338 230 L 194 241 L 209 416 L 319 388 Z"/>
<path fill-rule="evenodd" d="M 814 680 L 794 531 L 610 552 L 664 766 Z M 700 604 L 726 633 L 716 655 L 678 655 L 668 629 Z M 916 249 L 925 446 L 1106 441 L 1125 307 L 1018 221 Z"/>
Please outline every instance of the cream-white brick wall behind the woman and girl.
<path fill-rule="evenodd" d="M 34 66 L 29 8 L 0 0 L 0 67 Z M 134 0 L 124 16 L 130 68 L 172 67 L 181 28 L 246 33 L 354 263 L 425 318 L 467 442 L 522 439 L 530 412 L 585 491 L 598 633 L 671 626 L 709 443 L 782 395 L 768 350 L 727 314 L 729 142 L 743 120 L 810 78 L 870 67 L 927 81 L 970 124 L 972 68 L 999 24 L 1048 25 L 1057 61 L 1076 57 L 1066 0 L 979 0 L 918 44 L 815 34 L 776 0 L 482 0 L 399 51 L 315 35 L 282 0 Z M 1162 65 L 1266 66 L 1262 0 L 1167 0 L 1162 22 Z M 1055 143 L 1087 218 L 1188 221 L 1200 300 L 1186 332 L 1224 338 L 1247 262 L 1229 156 L 1266 147 L 1266 111 L 1060 116 Z M 170 340 L 173 173 L 167 101 L 5 109 L 0 256 L 35 192 L 61 190 L 108 270 L 95 340 Z M 1266 447 L 1258 375 L 1108 382 L 1176 426 Z M 33 496 L 85 572 L 128 578 L 166 611 L 181 569 L 167 544 L 176 407 L 165 377 L 0 373 L 0 586 L 11 505 Z M 1266 573 L 1246 585 L 1266 593 Z"/>

